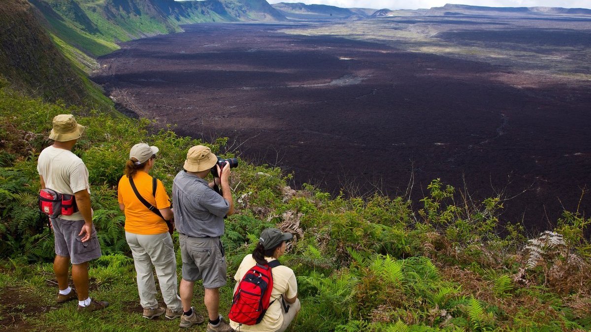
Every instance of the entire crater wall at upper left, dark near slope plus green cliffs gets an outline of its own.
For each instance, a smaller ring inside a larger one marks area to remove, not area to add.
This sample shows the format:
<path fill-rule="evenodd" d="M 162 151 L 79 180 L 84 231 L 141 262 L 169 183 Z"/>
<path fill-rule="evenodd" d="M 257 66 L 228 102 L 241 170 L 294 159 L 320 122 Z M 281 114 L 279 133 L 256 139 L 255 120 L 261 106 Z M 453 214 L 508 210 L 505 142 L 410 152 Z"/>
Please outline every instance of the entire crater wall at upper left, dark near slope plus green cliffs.
<path fill-rule="evenodd" d="M 1 0 L 0 76 L 49 100 L 111 108 L 88 74 L 116 43 L 180 24 L 283 20 L 265 0 Z"/>

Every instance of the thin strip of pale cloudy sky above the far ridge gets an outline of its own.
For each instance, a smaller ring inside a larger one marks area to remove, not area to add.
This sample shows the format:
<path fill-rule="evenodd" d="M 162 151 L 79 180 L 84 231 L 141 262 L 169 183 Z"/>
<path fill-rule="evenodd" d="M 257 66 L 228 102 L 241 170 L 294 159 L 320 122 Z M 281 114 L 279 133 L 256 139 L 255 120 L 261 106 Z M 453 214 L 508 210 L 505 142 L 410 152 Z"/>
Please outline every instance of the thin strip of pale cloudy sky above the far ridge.
<path fill-rule="evenodd" d="M 563 7 L 590 8 L 591 0 L 267 0 L 277 2 L 303 2 L 304 4 L 331 5 L 342 8 L 418 9 L 440 7 L 447 3 L 488 7 Z"/>

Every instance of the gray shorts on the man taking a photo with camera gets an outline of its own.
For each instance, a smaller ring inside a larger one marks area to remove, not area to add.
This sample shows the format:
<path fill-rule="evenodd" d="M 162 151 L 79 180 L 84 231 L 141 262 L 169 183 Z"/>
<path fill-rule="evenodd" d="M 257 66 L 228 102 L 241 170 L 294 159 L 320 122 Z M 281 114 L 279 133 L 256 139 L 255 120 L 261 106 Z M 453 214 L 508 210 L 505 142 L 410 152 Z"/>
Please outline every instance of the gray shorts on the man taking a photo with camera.
<path fill-rule="evenodd" d="M 189 237 L 178 235 L 183 259 L 183 279 L 203 279 L 204 288 L 226 284 L 226 257 L 219 237 Z"/>

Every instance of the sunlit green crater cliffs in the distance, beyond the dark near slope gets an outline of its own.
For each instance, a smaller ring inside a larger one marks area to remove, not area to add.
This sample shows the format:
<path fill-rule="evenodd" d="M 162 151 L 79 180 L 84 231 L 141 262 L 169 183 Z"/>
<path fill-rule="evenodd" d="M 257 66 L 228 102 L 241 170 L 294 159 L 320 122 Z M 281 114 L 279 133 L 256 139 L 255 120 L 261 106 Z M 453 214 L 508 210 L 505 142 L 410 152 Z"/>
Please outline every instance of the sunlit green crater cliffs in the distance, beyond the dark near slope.
<path fill-rule="evenodd" d="M 182 31 L 198 22 L 281 21 L 265 0 L 30 0 L 61 40 L 92 56 L 116 43 Z"/>

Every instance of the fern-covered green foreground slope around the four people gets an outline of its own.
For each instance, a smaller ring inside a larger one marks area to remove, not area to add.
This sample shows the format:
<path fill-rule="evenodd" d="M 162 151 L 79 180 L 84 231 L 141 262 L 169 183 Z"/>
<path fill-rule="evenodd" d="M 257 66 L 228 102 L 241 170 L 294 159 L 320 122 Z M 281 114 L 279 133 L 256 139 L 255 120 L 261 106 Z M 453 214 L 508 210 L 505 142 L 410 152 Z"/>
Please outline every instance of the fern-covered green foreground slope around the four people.
<path fill-rule="evenodd" d="M 144 141 L 160 147 L 152 174 L 170 192 L 187 149 L 200 141 L 170 131 L 149 134 L 145 120 L 64 107 L 24 97 L 0 80 L 0 252 L 12 258 L 0 260 L 0 320 L 35 330 L 176 330 L 178 320 L 140 317 L 115 184 L 131 145 Z M 48 144 L 51 118 L 64 112 L 88 128 L 74 152 L 89 168 L 105 254 L 91 264 L 91 293 L 112 303 L 90 315 L 77 314 L 74 303 L 54 304 L 53 239 L 34 219 L 36 158 Z M 223 144 L 210 146 L 219 153 Z M 276 225 L 296 234 L 282 258 L 298 276 L 303 303 L 291 331 L 591 328 L 591 249 L 582 236 L 591 219 L 566 213 L 556 229 L 561 237 L 529 242 L 541 254 L 528 265 L 535 255 L 523 249 L 526 238 L 517 227 L 497 235 L 496 198 L 456 203 L 453 188 L 434 181 L 423 209 L 413 213 L 402 197 L 331 198 L 313 187 L 292 190 L 288 179 L 277 168 L 241 161 L 231 183 L 238 213 L 226 220 L 223 242 L 231 278 L 262 229 Z M 222 314 L 231 288 L 230 281 L 221 289 Z M 6 302 L 10 294 L 20 300 Z M 193 304 L 204 313 L 202 294 L 196 287 Z"/>

